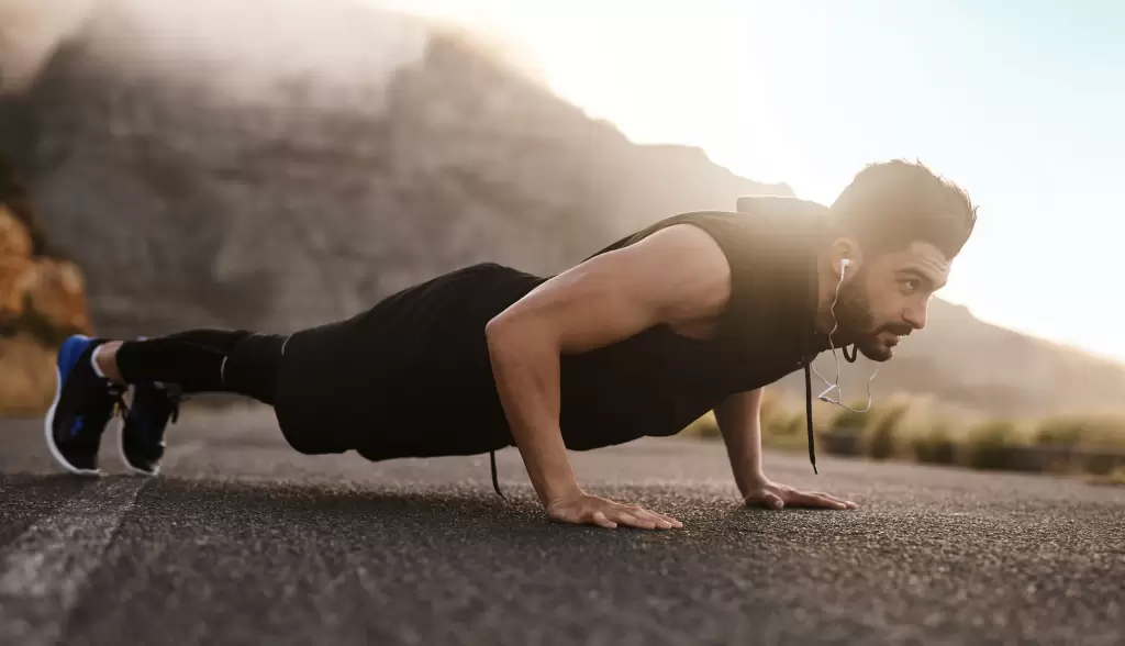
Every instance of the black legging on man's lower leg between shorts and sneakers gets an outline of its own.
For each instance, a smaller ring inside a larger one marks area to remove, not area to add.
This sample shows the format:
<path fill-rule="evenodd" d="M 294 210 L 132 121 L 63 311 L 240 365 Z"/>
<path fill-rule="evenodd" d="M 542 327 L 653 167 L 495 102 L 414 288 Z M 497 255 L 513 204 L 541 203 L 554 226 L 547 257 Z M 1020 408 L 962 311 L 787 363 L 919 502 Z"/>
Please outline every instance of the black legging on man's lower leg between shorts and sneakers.
<path fill-rule="evenodd" d="M 123 342 L 117 369 L 128 384 L 164 382 L 186 394 L 235 393 L 272 406 L 285 341 L 246 330 L 188 330 Z"/>

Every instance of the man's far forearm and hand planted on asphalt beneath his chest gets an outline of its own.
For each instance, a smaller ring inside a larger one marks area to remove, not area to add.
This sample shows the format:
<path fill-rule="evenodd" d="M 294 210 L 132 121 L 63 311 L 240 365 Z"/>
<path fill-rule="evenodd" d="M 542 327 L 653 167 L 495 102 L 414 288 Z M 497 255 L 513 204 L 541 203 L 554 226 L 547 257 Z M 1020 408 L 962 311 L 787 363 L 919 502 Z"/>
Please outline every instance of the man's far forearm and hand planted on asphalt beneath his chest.
<path fill-rule="evenodd" d="M 762 388 L 728 396 L 716 407 L 714 416 L 727 445 L 735 483 L 746 504 L 771 509 L 785 505 L 856 508 L 852 501 L 824 492 L 798 491 L 766 477 L 762 466 Z"/>

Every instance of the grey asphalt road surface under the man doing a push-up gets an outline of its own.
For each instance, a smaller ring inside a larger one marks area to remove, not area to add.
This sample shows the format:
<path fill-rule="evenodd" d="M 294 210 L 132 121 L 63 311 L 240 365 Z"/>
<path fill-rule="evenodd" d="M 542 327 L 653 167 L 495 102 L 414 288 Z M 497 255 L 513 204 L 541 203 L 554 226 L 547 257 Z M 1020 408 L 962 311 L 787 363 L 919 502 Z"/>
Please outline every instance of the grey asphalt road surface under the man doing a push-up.
<path fill-rule="evenodd" d="M 547 522 L 514 450 L 300 456 L 271 418 L 188 412 L 163 475 L 75 479 L 0 423 L 0 643 L 1125 643 L 1125 490 L 770 455 L 857 511 L 740 509 L 721 445 L 575 454 L 684 522 Z M 107 436 L 104 466 L 119 472 Z"/>

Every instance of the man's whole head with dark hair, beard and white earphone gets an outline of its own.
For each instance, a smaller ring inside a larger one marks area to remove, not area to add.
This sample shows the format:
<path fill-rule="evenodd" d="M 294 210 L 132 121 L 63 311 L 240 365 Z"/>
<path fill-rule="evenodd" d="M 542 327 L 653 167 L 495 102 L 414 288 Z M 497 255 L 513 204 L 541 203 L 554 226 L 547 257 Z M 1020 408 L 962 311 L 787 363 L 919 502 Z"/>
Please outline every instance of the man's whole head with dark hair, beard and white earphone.
<path fill-rule="evenodd" d="M 856 174 L 831 206 L 821 258 L 821 303 L 836 300 L 826 312 L 838 325 L 834 343 L 890 359 L 899 337 L 925 326 L 929 299 L 975 223 L 965 191 L 921 163 L 896 160 Z"/>

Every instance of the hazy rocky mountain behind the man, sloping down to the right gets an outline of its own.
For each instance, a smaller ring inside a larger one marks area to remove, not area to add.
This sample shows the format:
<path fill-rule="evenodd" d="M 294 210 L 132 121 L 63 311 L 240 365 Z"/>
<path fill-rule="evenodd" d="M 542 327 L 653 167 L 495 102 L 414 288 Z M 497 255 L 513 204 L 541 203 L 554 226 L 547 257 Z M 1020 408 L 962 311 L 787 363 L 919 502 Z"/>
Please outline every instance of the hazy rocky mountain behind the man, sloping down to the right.
<path fill-rule="evenodd" d="M 36 235 L 84 271 L 98 333 L 287 331 L 467 263 L 558 271 L 667 215 L 792 195 L 634 144 L 420 20 L 310 7 L 107 0 L 0 106 Z M 1056 412 L 1118 405 L 1125 369 L 938 302 L 875 388 Z"/>

